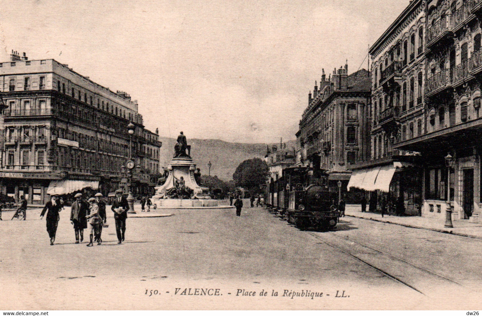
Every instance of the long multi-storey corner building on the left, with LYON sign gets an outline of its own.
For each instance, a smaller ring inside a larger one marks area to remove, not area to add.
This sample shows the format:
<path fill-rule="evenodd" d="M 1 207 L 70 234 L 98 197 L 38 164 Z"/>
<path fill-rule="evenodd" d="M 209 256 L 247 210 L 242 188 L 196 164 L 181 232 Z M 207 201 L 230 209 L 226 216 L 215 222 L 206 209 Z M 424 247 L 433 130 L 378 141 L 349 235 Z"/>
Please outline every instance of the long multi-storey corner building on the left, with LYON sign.
<path fill-rule="evenodd" d="M 134 194 L 155 185 L 149 175 L 159 173 L 161 142 L 144 128 L 136 101 L 53 59 L 28 60 L 16 52 L 11 57 L 0 63 L 0 95 L 7 107 L 3 193 L 25 195 L 30 204 L 43 204 L 49 187 L 59 192 L 99 187 L 107 194 L 126 187 L 121 166 L 130 154 L 139 166 Z"/>

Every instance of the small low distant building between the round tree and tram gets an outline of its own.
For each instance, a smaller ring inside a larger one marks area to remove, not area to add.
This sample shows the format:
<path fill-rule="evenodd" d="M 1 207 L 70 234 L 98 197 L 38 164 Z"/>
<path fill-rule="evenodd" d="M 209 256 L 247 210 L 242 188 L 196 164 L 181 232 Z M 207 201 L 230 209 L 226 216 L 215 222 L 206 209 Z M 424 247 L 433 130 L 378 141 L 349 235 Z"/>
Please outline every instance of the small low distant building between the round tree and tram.
<path fill-rule="evenodd" d="M 271 148 L 269 148 L 268 145 L 266 148 L 265 161 L 268 165 L 265 201 L 268 206 L 277 205 L 278 179 L 283 176 L 283 170 L 285 168 L 295 166 L 295 148 L 286 148 L 286 144 L 282 142 L 280 143 L 280 148 L 278 148 L 277 145 L 272 145 Z"/>

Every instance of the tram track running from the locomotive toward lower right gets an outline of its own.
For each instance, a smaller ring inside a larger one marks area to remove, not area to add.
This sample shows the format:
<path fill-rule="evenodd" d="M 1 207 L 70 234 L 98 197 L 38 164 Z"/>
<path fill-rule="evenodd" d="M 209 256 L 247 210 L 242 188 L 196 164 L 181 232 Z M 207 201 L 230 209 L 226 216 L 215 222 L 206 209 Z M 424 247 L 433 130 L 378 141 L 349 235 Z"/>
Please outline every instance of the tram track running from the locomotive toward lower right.
<path fill-rule="evenodd" d="M 365 245 L 352 238 L 336 234 L 335 232 L 315 233 L 307 232 L 324 244 L 368 265 L 382 275 L 418 293 L 431 296 L 442 288 L 462 288 L 462 285 L 450 278 L 429 271 L 414 263 L 405 261 L 383 250 Z"/>

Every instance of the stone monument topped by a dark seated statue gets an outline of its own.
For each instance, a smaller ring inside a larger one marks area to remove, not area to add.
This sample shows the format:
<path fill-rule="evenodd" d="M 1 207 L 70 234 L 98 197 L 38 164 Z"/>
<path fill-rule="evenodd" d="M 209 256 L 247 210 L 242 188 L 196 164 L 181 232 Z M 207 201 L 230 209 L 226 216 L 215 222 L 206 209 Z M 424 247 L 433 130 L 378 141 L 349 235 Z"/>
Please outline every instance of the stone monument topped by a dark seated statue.
<path fill-rule="evenodd" d="M 152 202 L 158 207 L 174 208 L 217 206 L 217 201 L 211 200 L 209 188 L 196 182 L 196 165 L 183 132 L 177 137 L 174 152 L 167 170 L 158 181 L 159 186 L 155 187 L 156 195 L 152 197 Z"/>

